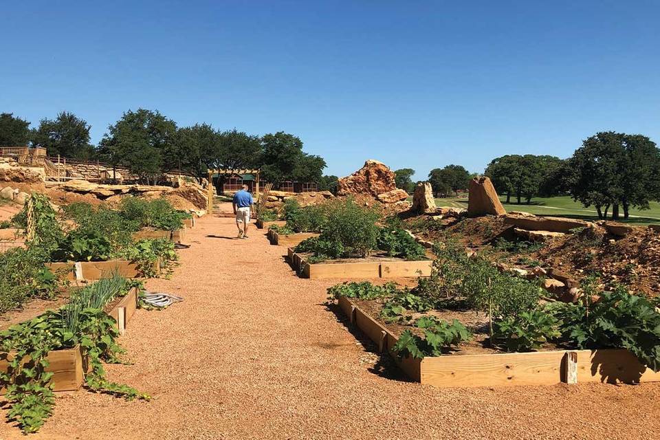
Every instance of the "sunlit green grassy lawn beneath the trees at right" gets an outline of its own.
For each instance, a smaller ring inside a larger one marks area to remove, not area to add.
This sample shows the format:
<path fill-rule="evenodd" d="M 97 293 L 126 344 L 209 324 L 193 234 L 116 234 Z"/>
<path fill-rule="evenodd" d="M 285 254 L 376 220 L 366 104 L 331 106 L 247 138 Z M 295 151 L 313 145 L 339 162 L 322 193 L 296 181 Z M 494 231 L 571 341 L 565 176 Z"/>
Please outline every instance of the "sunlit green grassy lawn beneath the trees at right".
<path fill-rule="evenodd" d="M 562 197 L 538 197 L 527 203 L 504 203 L 505 197 L 500 197 L 504 208 L 507 211 L 525 211 L 538 215 L 555 215 L 558 217 L 572 217 L 577 219 L 597 220 L 598 216 L 593 207 L 584 208 L 582 204 L 577 203 L 568 196 Z M 435 199 L 437 206 L 454 206 L 456 208 L 467 208 L 467 199 Z M 650 223 L 660 223 L 660 203 L 652 201 L 649 210 L 630 209 L 630 219 L 626 223 L 635 223 L 639 225 L 648 225 Z M 610 209 L 611 212 L 611 209 Z M 623 212 L 621 212 L 621 216 Z M 609 213 L 608 213 L 609 214 Z M 624 221 L 620 219 L 619 221 Z"/>

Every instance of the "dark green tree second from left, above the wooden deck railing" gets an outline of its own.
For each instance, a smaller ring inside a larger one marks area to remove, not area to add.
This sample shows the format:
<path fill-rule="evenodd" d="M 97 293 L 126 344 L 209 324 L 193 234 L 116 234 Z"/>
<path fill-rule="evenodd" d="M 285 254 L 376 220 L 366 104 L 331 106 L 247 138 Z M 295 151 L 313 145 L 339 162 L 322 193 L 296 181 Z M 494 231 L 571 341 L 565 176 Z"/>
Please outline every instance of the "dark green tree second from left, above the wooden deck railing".
<path fill-rule="evenodd" d="M 74 113 L 62 111 L 54 120 L 42 119 L 39 128 L 32 133 L 32 144 L 46 148 L 48 155 L 87 159 L 94 154 L 89 144 L 87 121 Z"/>

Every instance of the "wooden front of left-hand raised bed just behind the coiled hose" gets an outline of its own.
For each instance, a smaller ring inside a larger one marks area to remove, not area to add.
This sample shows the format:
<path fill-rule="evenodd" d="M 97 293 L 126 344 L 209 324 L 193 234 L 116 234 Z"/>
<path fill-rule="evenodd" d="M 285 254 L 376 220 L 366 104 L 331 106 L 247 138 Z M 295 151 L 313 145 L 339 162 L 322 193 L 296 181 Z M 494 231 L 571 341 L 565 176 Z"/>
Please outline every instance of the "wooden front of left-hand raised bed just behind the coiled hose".
<path fill-rule="evenodd" d="M 78 261 L 77 263 L 47 263 L 52 272 L 66 271 L 69 281 L 91 281 L 101 278 L 109 278 L 114 272 L 124 278 L 140 278 L 142 273 L 137 265 L 127 260 L 110 261 Z M 160 273 L 160 261 L 155 261 L 153 268 Z"/>

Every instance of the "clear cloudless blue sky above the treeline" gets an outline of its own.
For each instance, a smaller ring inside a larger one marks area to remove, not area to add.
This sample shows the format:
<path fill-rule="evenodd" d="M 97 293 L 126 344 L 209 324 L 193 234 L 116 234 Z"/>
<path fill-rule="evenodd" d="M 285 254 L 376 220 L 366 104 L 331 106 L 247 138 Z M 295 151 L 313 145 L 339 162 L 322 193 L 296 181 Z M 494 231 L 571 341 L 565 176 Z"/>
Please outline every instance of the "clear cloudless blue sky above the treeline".
<path fill-rule="evenodd" d="M 660 142 L 660 1 L 6 1 L 0 111 L 126 109 L 299 135 L 365 159 L 481 172 L 597 131 Z"/>

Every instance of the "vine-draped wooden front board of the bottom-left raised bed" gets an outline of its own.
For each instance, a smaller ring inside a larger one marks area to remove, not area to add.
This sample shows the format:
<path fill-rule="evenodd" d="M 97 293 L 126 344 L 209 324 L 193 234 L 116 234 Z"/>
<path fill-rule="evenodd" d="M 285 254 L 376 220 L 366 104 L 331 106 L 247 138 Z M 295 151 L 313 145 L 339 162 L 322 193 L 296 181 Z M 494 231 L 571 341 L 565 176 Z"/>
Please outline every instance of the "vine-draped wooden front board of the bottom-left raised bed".
<path fill-rule="evenodd" d="M 0 353 L 0 371 L 6 373 L 8 362 L 11 360 L 11 353 Z M 46 371 L 53 373 L 50 382 L 54 385 L 54 391 L 75 391 L 80 388 L 85 380 L 80 347 L 50 351 L 47 360 L 49 365 Z M 28 360 L 26 359 L 25 362 Z M 0 394 L 4 393 L 5 388 L 0 388 Z"/>

